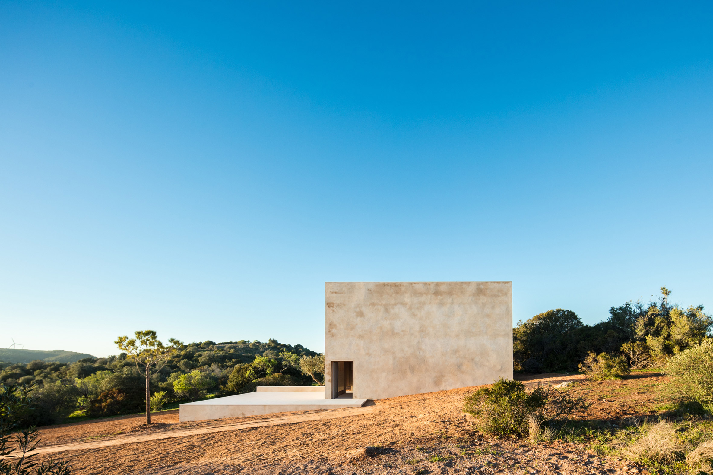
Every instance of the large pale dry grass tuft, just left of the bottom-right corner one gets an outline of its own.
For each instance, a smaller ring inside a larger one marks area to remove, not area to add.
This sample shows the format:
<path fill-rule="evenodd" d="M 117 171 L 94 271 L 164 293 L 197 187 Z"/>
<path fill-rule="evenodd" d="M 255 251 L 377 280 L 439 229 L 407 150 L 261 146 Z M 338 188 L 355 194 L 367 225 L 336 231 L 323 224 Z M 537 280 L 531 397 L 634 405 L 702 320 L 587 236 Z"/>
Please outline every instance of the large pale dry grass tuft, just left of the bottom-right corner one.
<path fill-rule="evenodd" d="M 676 439 L 676 427 L 671 422 L 642 425 L 641 437 L 622 447 L 621 453 L 633 460 L 653 460 L 670 463 L 685 451 Z"/>

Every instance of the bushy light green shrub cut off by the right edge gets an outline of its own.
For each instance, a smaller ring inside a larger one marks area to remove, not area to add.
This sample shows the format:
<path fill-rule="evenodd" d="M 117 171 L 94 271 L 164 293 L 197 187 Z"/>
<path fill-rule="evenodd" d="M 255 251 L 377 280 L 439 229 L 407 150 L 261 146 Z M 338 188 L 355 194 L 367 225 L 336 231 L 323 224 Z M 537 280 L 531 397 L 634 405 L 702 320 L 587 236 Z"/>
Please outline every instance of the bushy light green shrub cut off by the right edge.
<path fill-rule="evenodd" d="M 673 355 L 666 363 L 665 375 L 670 377 L 667 393 L 679 402 L 695 401 L 713 409 L 713 340 Z"/>

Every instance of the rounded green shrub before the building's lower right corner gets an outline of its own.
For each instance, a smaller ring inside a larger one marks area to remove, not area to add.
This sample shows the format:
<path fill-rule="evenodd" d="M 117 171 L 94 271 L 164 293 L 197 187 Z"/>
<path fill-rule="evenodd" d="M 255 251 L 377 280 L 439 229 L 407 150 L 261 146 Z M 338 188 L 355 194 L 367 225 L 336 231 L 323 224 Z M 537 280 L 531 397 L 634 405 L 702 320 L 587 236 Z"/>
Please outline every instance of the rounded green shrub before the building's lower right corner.
<path fill-rule="evenodd" d="M 503 377 L 491 387 L 481 387 L 466 397 L 463 411 L 478 419 L 478 427 L 491 434 L 527 434 L 527 415 L 537 412 L 547 400 L 542 388 L 531 394 L 519 381 Z"/>

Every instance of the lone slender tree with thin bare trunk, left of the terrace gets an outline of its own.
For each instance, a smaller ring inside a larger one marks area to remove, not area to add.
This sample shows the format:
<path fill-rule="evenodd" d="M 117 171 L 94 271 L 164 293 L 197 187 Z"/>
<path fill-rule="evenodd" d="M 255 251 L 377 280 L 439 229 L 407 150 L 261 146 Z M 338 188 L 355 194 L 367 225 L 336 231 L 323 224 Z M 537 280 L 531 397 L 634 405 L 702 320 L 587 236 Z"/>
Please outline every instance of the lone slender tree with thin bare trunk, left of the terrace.
<path fill-rule="evenodd" d="M 165 346 L 156 338 L 154 330 L 135 331 L 135 338 L 120 336 L 114 343 L 119 350 L 126 353 L 126 357 L 135 362 L 136 369 L 146 378 L 146 425 L 151 423 L 151 390 L 150 379 L 163 369 L 168 359 L 183 343 L 170 338 L 170 346 Z"/>

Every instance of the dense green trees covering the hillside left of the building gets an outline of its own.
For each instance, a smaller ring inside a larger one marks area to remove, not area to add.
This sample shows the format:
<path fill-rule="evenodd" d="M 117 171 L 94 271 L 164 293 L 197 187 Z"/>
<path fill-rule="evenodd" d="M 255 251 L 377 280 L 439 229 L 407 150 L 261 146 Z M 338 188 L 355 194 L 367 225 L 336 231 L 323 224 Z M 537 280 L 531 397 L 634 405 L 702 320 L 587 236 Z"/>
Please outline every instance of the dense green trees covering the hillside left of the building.
<path fill-rule="evenodd" d="M 152 407 L 205 397 L 208 392 L 230 395 L 254 391 L 258 385 L 313 385 L 319 375 L 299 367 L 318 353 L 302 345 L 277 340 L 180 345 L 150 380 Z M 307 360 L 304 360 L 306 358 Z M 141 412 L 145 380 L 125 353 L 85 358 L 71 364 L 32 361 L 0 363 L 0 382 L 31 386 L 35 410 L 26 424 L 62 422 L 81 409 L 92 417 Z M 231 378 L 231 375 L 233 377 Z"/>

